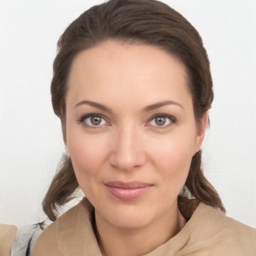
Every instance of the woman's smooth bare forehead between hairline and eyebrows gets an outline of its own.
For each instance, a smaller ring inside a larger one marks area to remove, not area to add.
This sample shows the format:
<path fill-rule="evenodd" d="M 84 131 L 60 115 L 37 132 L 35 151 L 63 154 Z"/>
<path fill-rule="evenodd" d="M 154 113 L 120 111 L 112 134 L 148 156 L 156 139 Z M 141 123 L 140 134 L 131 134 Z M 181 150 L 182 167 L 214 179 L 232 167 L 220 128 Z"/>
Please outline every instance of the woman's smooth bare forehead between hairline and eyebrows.
<path fill-rule="evenodd" d="M 106 41 L 74 58 L 67 98 L 95 100 L 100 95 L 116 101 L 133 94 L 151 100 L 170 95 L 177 100 L 188 93 L 186 84 L 183 64 L 168 52 L 151 45 Z"/>

